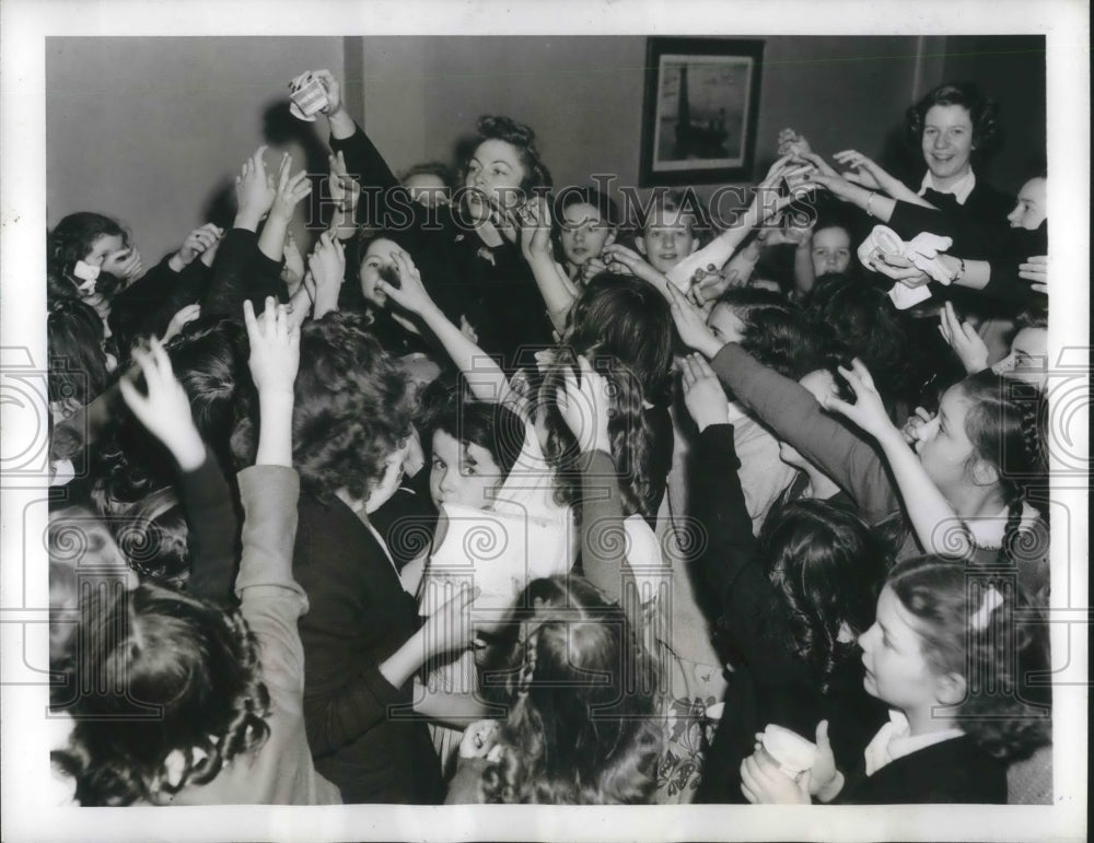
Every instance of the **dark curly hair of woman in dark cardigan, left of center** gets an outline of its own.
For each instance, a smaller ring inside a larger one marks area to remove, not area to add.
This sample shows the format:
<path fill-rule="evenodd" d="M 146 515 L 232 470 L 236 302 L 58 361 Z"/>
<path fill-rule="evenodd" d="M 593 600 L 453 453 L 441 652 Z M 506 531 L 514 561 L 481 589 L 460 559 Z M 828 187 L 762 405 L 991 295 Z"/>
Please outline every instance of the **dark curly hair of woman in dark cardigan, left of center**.
<path fill-rule="evenodd" d="M 292 460 L 301 489 L 321 501 L 339 489 L 366 497 L 410 435 L 414 401 L 362 314 L 334 312 L 304 324 L 294 391 Z M 237 465 L 254 461 L 252 415 L 232 436 Z"/>

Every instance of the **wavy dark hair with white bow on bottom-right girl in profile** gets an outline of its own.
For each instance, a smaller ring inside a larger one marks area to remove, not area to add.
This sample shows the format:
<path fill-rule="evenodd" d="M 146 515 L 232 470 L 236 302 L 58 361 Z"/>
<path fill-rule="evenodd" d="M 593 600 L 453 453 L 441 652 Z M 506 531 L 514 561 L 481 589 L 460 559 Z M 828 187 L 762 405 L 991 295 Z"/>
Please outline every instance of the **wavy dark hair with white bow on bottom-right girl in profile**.
<path fill-rule="evenodd" d="M 886 586 L 913 618 L 931 669 L 965 678 L 957 718 L 966 734 L 1006 760 L 1048 741 L 1050 703 L 1031 681 L 1048 674 L 1047 627 L 1031 620 L 1036 609 L 1011 575 L 927 555 L 897 564 Z M 1002 598 L 993 610 L 985 602 L 992 592 Z"/>

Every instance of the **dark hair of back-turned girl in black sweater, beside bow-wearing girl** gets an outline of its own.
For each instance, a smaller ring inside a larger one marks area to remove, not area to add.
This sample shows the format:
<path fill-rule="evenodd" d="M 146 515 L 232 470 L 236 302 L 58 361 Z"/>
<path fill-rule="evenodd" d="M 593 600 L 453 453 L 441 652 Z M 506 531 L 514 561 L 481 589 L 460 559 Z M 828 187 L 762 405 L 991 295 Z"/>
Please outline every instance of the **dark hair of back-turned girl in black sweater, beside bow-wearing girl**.
<path fill-rule="evenodd" d="M 861 518 L 823 501 L 788 503 L 764 523 L 757 546 L 787 608 L 791 647 L 827 693 L 874 622 L 889 548 Z M 839 641 L 843 624 L 853 634 Z"/>

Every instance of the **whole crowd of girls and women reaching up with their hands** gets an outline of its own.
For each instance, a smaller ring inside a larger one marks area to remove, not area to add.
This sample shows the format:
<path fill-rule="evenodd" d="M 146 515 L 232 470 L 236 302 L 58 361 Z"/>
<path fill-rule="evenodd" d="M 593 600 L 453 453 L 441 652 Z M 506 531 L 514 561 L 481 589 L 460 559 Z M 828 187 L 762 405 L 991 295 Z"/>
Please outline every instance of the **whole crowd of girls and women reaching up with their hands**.
<path fill-rule="evenodd" d="M 149 269 L 48 234 L 59 800 L 1050 798 L 1047 182 L 989 185 L 994 103 L 909 108 L 919 183 L 787 129 L 714 227 L 504 116 L 397 178 L 313 78 L 314 244 L 266 148 Z"/>

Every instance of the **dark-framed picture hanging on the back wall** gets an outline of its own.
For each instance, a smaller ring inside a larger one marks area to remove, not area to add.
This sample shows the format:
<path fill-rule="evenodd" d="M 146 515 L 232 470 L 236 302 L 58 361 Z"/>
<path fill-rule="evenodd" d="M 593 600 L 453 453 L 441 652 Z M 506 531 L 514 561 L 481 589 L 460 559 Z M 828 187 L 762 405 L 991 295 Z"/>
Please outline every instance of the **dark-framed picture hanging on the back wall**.
<path fill-rule="evenodd" d="M 750 179 L 764 42 L 649 38 L 639 185 Z"/>

